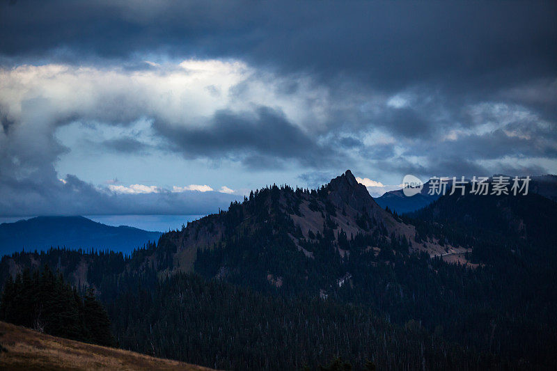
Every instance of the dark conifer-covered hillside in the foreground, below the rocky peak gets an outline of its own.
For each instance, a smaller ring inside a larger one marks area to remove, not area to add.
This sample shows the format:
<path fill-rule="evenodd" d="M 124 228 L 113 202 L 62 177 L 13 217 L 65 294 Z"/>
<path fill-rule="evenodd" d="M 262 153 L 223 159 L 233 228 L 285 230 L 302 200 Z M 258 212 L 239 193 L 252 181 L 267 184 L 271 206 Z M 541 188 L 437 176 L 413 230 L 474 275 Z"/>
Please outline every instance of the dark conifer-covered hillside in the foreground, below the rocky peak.
<path fill-rule="evenodd" d="M 109 306 L 123 347 L 226 370 L 320 370 L 338 356 L 354 370 L 373 370 L 363 368 L 366 360 L 377 370 L 492 363 L 417 322 L 397 326 L 365 306 L 260 294 L 195 274 L 164 278 Z"/>

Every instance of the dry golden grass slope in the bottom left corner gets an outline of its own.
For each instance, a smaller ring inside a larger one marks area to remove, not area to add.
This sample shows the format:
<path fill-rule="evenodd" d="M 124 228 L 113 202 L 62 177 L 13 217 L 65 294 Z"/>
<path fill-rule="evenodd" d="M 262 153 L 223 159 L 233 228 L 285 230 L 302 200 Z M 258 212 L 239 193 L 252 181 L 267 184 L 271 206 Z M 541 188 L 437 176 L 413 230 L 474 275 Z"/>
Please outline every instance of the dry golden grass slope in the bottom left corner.
<path fill-rule="evenodd" d="M 0 322 L 0 370 L 210 370 Z M 6 351 L 4 351 L 7 350 Z"/>

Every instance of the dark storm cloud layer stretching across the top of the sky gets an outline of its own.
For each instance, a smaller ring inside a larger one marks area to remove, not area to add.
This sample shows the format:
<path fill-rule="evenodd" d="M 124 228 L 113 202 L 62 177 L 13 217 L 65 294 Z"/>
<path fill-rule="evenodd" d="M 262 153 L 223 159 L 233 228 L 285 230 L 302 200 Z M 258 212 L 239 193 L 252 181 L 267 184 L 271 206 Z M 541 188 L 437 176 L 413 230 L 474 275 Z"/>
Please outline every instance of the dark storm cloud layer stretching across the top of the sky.
<path fill-rule="evenodd" d="M 235 57 L 322 77 L 345 73 L 381 88 L 450 80 L 490 90 L 509 74 L 516 81 L 555 72 L 556 17 L 549 1 L 18 1 L 1 6 L 0 50 Z"/>

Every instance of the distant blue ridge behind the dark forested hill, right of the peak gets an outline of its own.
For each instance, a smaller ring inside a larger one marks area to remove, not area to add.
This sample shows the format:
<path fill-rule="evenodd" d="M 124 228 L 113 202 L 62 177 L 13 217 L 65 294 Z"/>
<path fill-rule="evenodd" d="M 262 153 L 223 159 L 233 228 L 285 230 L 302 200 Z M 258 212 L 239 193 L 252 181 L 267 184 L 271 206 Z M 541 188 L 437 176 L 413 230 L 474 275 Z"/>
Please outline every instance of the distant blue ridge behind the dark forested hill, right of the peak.
<path fill-rule="evenodd" d="M 398 214 L 415 212 L 416 210 L 430 205 L 441 196 L 439 194 L 428 194 L 430 184 L 431 180 L 425 182 L 421 192 L 414 196 L 405 196 L 405 194 L 402 193 L 402 189 L 397 189 L 395 191 L 386 192 L 383 196 L 375 198 L 375 201 L 379 206 L 383 208 L 389 207 L 390 210 Z M 449 185 L 447 189 L 450 189 Z M 533 176 L 531 177 L 528 189 L 530 193 L 540 194 L 540 196 L 557 201 L 557 175 Z"/>

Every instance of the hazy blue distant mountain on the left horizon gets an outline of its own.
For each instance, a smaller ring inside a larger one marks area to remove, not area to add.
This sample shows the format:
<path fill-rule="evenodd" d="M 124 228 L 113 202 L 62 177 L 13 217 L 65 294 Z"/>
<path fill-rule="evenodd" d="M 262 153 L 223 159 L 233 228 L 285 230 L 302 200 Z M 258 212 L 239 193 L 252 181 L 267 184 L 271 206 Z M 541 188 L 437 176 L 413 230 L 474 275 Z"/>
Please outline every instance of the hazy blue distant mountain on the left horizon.
<path fill-rule="evenodd" d="M 160 235 L 127 226 L 107 226 L 83 216 L 38 216 L 0 224 L 0 253 L 40 251 L 51 246 L 131 253 L 149 241 L 157 241 Z"/>

